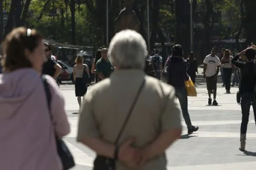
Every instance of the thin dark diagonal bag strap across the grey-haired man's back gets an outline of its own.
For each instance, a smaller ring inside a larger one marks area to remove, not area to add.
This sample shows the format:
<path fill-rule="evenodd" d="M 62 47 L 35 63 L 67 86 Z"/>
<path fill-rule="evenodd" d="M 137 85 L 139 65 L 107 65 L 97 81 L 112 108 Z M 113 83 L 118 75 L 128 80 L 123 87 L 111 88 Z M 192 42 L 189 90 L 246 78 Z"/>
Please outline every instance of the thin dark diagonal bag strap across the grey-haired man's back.
<path fill-rule="evenodd" d="M 123 122 L 123 125 L 122 125 L 122 127 L 121 127 L 121 129 L 120 129 L 120 131 L 119 131 L 119 133 L 118 133 L 118 136 L 117 136 L 116 141 L 115 141 L 115 145 L 118 144 L 118 141 L 119 141 L 119 139 L 120 139 L 120 137 L 121 137 L 121 135 L 122 135 L 122 133 L 123 133 L 123 131 L 124 131 L 124 128 L 126 127 L 126 125 L 127 125 L 127 123 L 128 123 L 128 120 L 129 120 L 130 117 L 131 117 L 131 114 L 132 114 L 132 112 L 133 112 L 133 109 L 134 109 L 134 107 L 135 107 L 135 105 L 136 105 L 136 103 L 137 103 L 137 101 L 138 101 L 138 97 L 139 97 L 139 95 L 140 95 L 140 93 L 141 93 L 142 88 L 143 88 L 144 85 L 145 85 L 145 78 L 144 78 L 142 84 L 140 85 L 140 87 L 139 87 L 139 89 L 138 89 L 138 92 L 137 92 L 137 94 L 136 94 L 136 96 L 135 96 L 135 99 L 134 99 L 132 105 L 131 105 L 131 108 L 130 108 L 130 110 L 129 110 L 129 112 L 128 112 L 128 114 L 127 114 L 127 116 L 126 116 L 126 118 L 125 118 L 125 120 L 124 120 L 124 122 Z"/>

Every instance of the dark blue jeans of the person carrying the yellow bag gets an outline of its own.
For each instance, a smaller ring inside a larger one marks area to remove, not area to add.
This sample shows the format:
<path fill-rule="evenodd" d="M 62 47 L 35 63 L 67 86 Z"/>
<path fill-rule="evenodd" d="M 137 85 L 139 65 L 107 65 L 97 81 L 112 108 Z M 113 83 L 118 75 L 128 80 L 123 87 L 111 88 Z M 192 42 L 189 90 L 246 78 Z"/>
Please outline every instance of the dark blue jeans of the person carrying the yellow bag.
<path fill-rule="evenodd" d="M 187 125 L 188 129 L 192 128 L 192 123 L 190 120 L 190 116 L 188 113 L 188 93 L 185 87 L 183 88 L 175 88 L 176 90 L 176 96 L 178 98 L 181 111 L 182 111 L 182 116 L 183 119 L 185 120 L 185 123 Z"/>

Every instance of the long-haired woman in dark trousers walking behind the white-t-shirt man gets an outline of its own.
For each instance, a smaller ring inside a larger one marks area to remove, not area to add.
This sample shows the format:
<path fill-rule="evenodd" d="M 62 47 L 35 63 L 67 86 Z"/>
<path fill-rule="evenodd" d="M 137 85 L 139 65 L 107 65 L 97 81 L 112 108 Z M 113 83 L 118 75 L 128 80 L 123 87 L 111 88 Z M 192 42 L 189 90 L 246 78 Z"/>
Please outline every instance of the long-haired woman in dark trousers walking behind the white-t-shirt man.
<path fill-rule="evenodd" d="M 221 59 L 221 68 L 223 69 L 224 81 L 226 93 L 230 94 L 230 86 L 231 86 L 231 75 L 233 72 L 233 64 L 231 60 L 233 57 L 231 56 L 231 52 L 229 50 L 225 50 L 223 57 Z"/>

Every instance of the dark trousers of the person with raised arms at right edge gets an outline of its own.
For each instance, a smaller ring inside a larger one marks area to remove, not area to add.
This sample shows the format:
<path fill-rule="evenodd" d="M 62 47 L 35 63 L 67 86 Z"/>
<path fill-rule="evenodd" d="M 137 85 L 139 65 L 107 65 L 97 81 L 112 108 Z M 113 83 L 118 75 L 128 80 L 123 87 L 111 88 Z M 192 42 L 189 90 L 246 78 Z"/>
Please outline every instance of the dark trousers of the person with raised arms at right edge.
<path fill-rule="evenodd" d="M 254 109 L 254 119 L 256 121 L 256 100 L 254 92 L 243 92 L 241 95 L 241 110 L 242 110 L 242 122 L 241 122 L 241 134 L 246 134 L 247 125 L 250 115 L 251 102 Z"/>

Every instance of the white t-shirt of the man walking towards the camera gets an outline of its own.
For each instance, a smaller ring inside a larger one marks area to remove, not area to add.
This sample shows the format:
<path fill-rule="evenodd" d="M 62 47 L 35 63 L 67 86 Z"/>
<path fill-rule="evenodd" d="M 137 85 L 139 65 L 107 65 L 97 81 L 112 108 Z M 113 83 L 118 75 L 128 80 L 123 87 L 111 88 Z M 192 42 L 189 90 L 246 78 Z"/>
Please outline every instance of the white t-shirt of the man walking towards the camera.
<path fill-rule="evenodd" d="M 203 64 L 207 64 L 205 71 L 206 77 L 211 77 L 216 74 L 217 66 L 220 66 L 220 60 L 216 55 L 212 57 L 211 54 L 209 54 L 204 58 Z"/>

